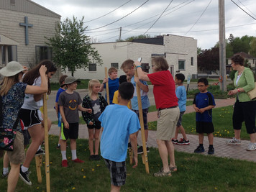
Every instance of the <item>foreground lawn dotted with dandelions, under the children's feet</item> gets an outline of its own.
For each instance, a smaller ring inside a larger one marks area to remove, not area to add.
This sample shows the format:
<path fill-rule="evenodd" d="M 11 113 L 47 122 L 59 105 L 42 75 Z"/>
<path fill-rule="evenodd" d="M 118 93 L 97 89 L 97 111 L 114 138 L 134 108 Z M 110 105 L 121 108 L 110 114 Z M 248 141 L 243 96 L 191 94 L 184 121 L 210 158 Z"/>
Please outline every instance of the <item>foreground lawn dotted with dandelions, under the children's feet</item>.
<path fill-rule="evenodd" d="M 78 157 L 85 163 L 72 163 L 70 148 L 67 150 L 68 168 L 62 168 L 60 150 L 55 148 L 58 137 L 50 136 L 50 186 L 51 191 L 110 191 L 109 170 L 104 160 L 89 161 L 87 140 L 77 141 Z M 127 183 L 122 191 L 255 191 L 256 163 L 233 160 L 209 155 L 175 152 L 178 172 L 170 178 L 154 178 L 152 173 L 161 166 L 157 149 L 148 153 L 150 174 L 139 155 L 139 165 L 133 169 L 127 160 Z M 0 160 L 2 165 L 2 159 Z M 32 161 L 29 175 L 32 186 L 19 179 L 16 191 L 46 191 L 45 167 L 42 164 L 42 183 L 37 183 L 35 161 Z M 6 191 L 6 178 L 0 179 L 1 191 Z"/>

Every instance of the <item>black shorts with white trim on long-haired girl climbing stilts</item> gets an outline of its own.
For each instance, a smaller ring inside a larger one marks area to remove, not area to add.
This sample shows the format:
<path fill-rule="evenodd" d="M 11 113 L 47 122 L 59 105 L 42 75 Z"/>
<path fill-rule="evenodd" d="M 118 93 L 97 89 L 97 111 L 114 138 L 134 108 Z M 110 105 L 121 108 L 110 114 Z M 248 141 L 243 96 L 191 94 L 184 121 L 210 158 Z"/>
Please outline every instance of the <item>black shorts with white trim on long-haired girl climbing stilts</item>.
<path fill-rule="evenodd" d="M 21 119 L 24 124 L 24 129 L 34 126 L 35 124 L 41 124 L 42 114 L 38 110 L 30 109 L 20 109 L 19 110 L 19 119 Z"/>

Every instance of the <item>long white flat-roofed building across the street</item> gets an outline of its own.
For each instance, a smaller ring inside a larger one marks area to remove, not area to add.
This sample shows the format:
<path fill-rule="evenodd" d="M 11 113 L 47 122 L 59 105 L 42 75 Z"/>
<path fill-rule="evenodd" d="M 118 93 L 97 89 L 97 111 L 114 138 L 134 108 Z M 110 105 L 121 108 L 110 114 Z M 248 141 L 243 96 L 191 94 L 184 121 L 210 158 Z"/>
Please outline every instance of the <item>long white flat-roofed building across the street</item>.
<path fill-rule="evenodd" d="M 118 75 L 124 74 L 120 67 L 124 60 L 142 58 L 142 69 L 152 73 L 151 59 L 162 57 L 168 61 L 169 70 L 173 76 L 176 73 L 183 73 L 186 78 L 191 74 L 196 78 L 197 74 L 197 40 L 191 37 L 178 35 L 163 35 L 154 38 L 133 40 L 132 42 L 104 42 L 94 43 L 92 47 L 101 55 L 103 65 L 90 63 L 87 70 L 78 69 L 74 73 L 76 78 L 82 79 L 103 79 L 104 68 L 115 67 Z M 71 72 L 66 70 L 68 76 Z"/>

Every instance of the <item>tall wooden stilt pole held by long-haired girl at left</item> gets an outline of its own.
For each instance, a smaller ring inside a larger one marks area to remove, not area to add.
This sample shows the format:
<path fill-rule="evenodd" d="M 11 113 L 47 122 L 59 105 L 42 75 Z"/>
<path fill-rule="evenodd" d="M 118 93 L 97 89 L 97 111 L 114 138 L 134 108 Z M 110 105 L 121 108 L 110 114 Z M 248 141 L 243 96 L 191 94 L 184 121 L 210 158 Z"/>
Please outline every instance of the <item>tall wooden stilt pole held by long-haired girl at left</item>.
<path fill-rule="evenodd" d="M 44 101 L 44 127 L 45 127 L 45 175 L 46 191 L 50 192 L 50 162 L 49 162 L 49 140 L 48 140 L 48 119 L 47 119 L 47 101 L 46 93 L 43 95 Z"/>

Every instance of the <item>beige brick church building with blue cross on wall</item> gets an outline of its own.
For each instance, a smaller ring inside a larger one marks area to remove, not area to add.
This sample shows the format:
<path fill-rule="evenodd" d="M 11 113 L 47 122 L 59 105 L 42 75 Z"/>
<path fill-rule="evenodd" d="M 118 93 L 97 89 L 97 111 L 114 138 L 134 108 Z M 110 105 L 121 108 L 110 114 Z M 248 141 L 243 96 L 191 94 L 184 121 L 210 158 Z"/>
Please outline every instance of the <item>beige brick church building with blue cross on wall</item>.
<path fill-rule="evenodd" d="M 51 59 L 45 36 L 55 35 L 60 15 L 29 0 L 0 1 L 0 68 L 16 60 L 29 67 Z M 26 27 L 27 26 L 27 27 Z"/>

